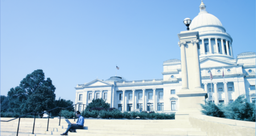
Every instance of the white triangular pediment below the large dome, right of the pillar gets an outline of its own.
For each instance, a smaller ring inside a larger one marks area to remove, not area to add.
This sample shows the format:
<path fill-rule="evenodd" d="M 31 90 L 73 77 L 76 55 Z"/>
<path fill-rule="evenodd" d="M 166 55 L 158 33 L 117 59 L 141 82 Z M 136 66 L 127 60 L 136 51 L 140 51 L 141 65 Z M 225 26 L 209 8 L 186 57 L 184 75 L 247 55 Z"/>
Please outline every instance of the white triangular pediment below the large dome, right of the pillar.
<path fill-rule="evenodd" d="M 236 63 L 225 61 L 222 59 L 217 59 L 217 58 L 203 58 L 200 60 L 200 67 L 212 67 L 212 66 L 217 66 L 217 67 L 222 67 L 222 66 L 236 66 Z"/>

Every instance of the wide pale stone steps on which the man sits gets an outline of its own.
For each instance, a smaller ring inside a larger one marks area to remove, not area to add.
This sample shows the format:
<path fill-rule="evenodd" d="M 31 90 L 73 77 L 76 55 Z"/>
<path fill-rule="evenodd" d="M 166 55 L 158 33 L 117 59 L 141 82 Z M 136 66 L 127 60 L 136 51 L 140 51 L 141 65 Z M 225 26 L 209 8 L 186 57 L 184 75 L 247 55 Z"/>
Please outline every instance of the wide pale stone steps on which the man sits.
<path fill-rule="evenodd" d="M 10 120 L 12 118 L 1 118 Z M 1 121 L 1 135 L 16 135 L 19 119 Z M 75 123 L 74 120 L 69 120 Z M 20 136 L 60 135 L 67 129 L 67 122 L 61 119 L 36 118 L 34 134 L 32 134 L 34 118 L 20 118 Z M 192 128 L 188 120 L 85 120 L 84 129 L 69 132 L 68 135 L 85 136 L 145 136 L 145 135 L 207 135 L 200 128 Z"/>

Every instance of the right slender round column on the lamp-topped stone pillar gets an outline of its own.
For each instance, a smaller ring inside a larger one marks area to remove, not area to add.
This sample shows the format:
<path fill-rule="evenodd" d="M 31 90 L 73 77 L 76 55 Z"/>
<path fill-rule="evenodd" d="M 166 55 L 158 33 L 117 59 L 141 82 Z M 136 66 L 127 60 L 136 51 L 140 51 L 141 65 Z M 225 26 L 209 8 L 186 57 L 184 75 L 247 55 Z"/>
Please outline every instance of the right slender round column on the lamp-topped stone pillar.
<path fill-rule="evenodd" d="M 198 55 L 198 48 L 197 48 L 197 42 L 199 42 L 199 40 L 192 40 L 191 43 L 193 44 L 193 54 L 194 54 L 194 69 L 195 69 L 195 88 L 202 88 L 201 87 L 201 75 L 200 75 L 200 65 L 199 65 L 199 58 L 197 56 Z"/>

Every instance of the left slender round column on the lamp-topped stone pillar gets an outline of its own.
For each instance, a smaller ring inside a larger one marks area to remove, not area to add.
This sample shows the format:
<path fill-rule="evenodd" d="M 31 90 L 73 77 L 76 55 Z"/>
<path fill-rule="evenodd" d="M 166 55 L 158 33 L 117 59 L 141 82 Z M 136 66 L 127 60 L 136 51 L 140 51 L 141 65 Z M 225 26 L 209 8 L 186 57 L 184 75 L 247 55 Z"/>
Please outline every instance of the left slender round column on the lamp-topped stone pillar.
<path fill-rule="evenodd" d="M 188 89 L 188 74 L 187 74 L 187 61 L 185 54 L 185 44 L 186 42 L 178 42 L 181 52 L 181 81 L 182 89 Z"/>

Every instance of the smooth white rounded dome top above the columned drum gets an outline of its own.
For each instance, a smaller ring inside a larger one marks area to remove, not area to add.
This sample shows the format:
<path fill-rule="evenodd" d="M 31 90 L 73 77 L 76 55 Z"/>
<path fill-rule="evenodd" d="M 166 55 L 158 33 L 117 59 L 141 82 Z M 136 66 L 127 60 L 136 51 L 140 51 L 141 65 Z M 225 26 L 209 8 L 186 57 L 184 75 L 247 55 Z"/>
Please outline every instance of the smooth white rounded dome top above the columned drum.
<path fill-rule="evenodd" d="M 189 29 L 193 30 L 207 25 L 217 25 L 223 27 L 220 20 L 218 20 L 216 16 L 209 14 L 208 12 L 202 12 L 192 20 L 191 24 L 189 25 Z"/>

